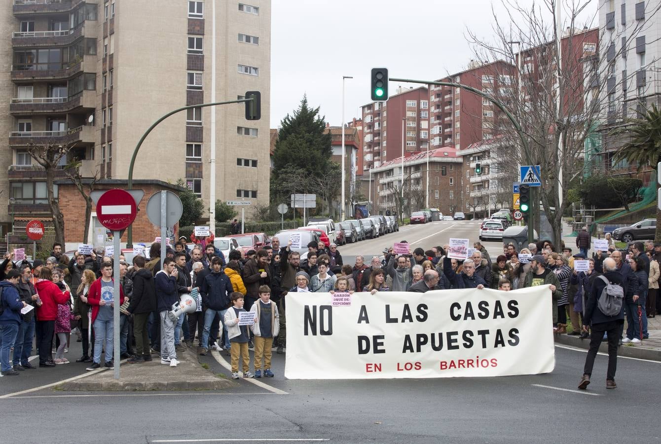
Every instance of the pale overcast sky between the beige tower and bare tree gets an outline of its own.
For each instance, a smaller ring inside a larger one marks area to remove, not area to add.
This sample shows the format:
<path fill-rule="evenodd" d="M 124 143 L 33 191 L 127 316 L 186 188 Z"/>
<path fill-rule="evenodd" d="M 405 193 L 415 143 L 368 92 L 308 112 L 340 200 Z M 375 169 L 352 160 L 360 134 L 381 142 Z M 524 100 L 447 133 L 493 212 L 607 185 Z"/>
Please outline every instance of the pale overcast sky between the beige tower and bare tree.
<path fill-rule="evenodd" d="M 339 126 L 343 75 L 354 77 L 345 81 L 348 122 L 370 102 L 372 67 L 387 67 L 389 77 L 403 79 L 435 80 L 462 71 L 472 57 L 466 29 L 490 38 L 492 5 L 506 20 L 499 0 L 272 0 L 271 128 L 299 106 L 303 94 Z M 597 5 L 590 1 L 580 27 L 597 25 Z M 397 86 L 390 83 L 390 94 Z"/>

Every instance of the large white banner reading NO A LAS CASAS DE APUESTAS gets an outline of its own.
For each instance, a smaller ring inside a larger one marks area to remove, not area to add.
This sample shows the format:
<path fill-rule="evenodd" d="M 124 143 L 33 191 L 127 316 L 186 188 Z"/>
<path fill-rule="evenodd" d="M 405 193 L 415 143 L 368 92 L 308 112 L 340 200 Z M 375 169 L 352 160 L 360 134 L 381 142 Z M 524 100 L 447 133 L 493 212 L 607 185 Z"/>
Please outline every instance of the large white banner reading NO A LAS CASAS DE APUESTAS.
<path fill-rule="evenodd" d="M 493 377 L 555 367 L 549 285 L 287 295 L 289 379 Z"/>

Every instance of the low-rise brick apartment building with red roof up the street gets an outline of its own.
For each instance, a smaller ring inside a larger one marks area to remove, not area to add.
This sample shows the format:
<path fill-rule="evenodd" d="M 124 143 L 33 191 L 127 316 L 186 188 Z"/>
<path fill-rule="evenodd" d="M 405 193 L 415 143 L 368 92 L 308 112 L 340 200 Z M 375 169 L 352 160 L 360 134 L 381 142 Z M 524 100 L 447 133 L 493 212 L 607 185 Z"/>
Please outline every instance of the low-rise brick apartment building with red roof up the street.
<path fill-rule="evenodd" d="M 453 147 L 409 155 L 403 168 L 405 215 L 426 207 L 438 208 L 444 214 L 462 211 L 463 159 Z M 388 209 L 397 209 L 396 194 L 402 191 L 402 158 L 385 161 L 372 168 L 371 174 L 373 186 L 369 200 L 375 207 L 373 213 L 385 214 Z"/>

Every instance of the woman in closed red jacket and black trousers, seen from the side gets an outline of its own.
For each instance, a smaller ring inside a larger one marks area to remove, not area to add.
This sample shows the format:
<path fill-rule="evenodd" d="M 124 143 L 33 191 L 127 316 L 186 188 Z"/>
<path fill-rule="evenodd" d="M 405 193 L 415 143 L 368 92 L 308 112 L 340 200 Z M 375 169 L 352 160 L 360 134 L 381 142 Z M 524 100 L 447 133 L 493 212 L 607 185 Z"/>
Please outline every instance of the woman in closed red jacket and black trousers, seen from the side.
<path fill-rule="evenodd" d="M 39 332 L 39 367 L 55 367 L 51 346 L 55 332 L 55 320 L 58 317 L 58 304 L 68 303 L 71 296 L 68 291 L 62 293 L 53 281 L 53 272 L 48 267 L 42 267 L 34 288 L 37 291 L 37 324 Z"/>

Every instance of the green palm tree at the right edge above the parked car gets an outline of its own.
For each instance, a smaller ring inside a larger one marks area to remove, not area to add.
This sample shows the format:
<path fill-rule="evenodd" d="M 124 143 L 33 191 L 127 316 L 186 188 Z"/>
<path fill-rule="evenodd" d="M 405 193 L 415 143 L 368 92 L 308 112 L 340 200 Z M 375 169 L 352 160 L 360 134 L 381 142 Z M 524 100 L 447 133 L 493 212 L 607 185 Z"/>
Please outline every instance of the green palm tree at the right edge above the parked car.
<path fill-rule="evenodd" d="M 644 166 L 650 166 L 658 174 L 658 163 L 661 162 L 661 112 L 652 104 L 637 122 L 627 128 L 631 137 L 613 156 L 613 162 L 627 161 L 629 164 L 637 163 L 640 172 Z M 658 195 L 658 180 L 656 192 Z M 655 242 L 661 242 L 661 210 L 656 209 L 656 235 Z"/>

